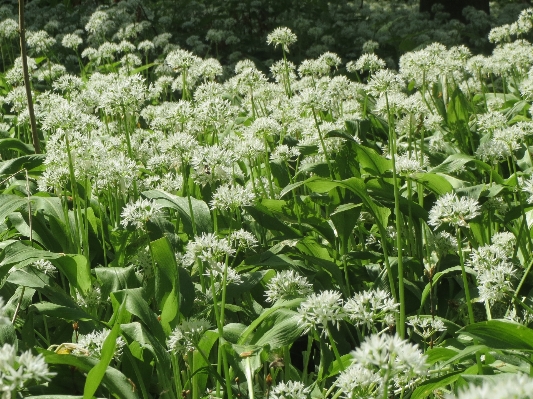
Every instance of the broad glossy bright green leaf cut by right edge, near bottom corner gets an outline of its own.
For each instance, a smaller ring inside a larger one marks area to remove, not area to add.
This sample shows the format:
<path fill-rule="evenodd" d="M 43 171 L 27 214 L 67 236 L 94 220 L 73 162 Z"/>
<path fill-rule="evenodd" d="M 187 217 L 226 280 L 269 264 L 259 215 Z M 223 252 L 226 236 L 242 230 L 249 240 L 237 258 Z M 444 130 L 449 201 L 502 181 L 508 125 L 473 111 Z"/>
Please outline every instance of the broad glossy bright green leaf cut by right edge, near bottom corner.
<path fill-rule="evenodd" d="M 459 330 L 492 349 L 533 350 L 533 330 L 510 320 L 489 320 Z"/>

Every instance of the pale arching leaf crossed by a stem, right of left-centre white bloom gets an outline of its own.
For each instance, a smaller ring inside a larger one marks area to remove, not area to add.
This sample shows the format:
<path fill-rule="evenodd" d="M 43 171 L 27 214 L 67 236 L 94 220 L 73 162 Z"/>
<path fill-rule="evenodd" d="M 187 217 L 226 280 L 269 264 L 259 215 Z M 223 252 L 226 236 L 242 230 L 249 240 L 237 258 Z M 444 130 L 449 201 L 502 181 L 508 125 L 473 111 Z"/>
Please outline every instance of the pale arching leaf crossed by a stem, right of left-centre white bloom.
<path fill-rule="evenodd" d="M 180 214 L 181 220 L 183 221 L 185 232 L 192 236 L 192 218 L 187 198 L 178 197 L 177 195 L 173 195 L 162 190 L 144 191 L 142 194 L 147 198 L 155 199 L 158 204 L 164 207 L 176 209 Z M 194 216 L 194 223 L 196 224 L 196 233 L 200 235 L 202 233 L 213 232 L 211 213 L 207 204 L 204 201 L 191 198 L 191 206 Z"/>

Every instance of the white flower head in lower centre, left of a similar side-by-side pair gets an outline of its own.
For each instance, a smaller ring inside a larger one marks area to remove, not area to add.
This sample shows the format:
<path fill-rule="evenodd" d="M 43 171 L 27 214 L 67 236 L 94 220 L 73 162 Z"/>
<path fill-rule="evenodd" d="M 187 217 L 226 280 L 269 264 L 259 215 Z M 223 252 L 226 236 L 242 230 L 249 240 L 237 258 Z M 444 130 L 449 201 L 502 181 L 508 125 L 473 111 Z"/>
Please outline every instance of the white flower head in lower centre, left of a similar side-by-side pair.
<path fill-rule="evenodd" d="M 319 294 L 311 294 L 298 308 L 298 324 L 304 327 L 304 333 L 311 329 L 322 327 L 322 333 L 327 331 L 328 322 L 339 325 L 344 317 L 342 294 L 338 291 L 327 290 Z"/>

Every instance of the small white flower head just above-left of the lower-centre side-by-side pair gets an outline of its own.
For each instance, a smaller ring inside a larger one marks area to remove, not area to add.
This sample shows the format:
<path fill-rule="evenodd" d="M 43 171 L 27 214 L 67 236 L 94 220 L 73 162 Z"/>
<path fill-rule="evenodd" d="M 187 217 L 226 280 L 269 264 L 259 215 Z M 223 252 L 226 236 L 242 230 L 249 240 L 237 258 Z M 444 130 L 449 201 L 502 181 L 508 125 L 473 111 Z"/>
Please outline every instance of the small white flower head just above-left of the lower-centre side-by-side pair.
<path fill-rule="evenodd" d="M 307 278 L 299 275 L 294 270 L 277 272 L 268 282 L 265 295 L 268 302 L 280 299 L 291 299 L 308 296 L 313 292 L 313 286 Z"/>

